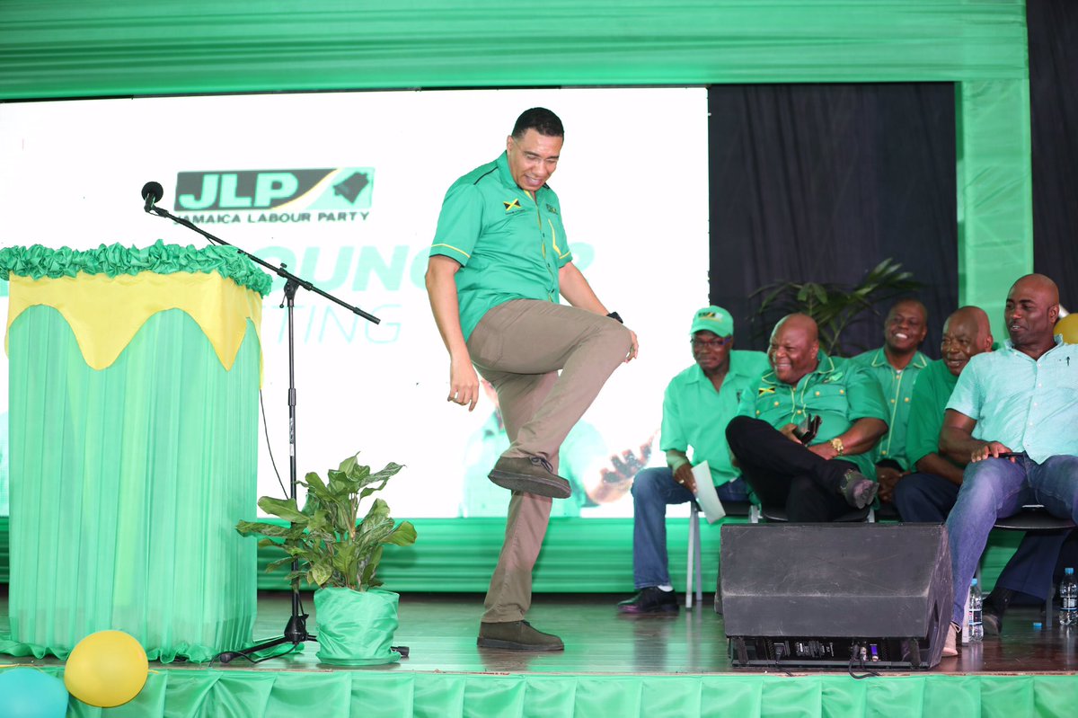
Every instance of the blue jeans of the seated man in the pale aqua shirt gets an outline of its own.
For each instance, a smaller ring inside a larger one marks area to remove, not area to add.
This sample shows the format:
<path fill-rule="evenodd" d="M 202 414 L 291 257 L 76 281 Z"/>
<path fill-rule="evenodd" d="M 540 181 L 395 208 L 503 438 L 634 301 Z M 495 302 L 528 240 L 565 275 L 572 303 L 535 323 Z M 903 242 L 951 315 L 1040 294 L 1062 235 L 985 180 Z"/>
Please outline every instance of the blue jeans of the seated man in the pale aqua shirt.
<path fill-rule="evenodd" d="M 1053 516 L 1078 521 L 1078 457 L 1050 456 L 1037 464 L 1023 454 L 1013 462 L 990 458 L 966 467 L 946 520 L 955 623 L 962 624 L 966 592 L 996 519 L 1018 513 L 1025 503 L 1044 503 Z"/>

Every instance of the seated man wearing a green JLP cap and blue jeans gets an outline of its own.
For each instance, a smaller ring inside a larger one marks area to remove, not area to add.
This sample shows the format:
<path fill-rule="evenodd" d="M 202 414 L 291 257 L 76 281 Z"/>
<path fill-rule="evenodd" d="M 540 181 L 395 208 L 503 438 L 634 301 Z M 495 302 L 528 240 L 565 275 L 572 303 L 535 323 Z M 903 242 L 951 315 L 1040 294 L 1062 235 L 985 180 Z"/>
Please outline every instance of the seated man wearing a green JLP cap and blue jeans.
<path fill-rule="evenodd" d="M 744 501 L 744 482 L 730 464 L 727 422 L 745 387 L 768 367 L 761 351 L 734 351 L 734 322 L 725 309 L 704 307 L 689 330 L 696 360 L 671 379 L 663 397 L 660 446 L 666 467 L 644 469 L 633 482 L 633 580 L 637 594 L 622 613 L 677 613 L 666 558 L 666 505 L 691 501 L 694 464 L 707 461 L 719 498 Z M 689 448 L 692 448 L 692 459 Z"/>

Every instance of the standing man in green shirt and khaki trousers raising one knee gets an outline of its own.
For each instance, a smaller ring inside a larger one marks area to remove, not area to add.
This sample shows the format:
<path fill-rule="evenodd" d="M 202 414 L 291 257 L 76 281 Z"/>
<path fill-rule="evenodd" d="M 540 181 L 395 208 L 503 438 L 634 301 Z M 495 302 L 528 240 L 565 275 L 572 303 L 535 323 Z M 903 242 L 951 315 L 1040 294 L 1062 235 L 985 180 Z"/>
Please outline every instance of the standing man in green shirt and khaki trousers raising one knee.
<path fill-rule="evenodd" d="M 572 263 L 557 195 L 547 185 L 564 137 L 550 110 L 521 114 L 505 153 L 446 192 L 427 265 L 450 353 L 447 400 L 473 410 L 479 370 L 498 392 L 511 442 L 488 474 L 512 497 L 480 623 L 476 643 L 485 648 L 564 648 L 524 620 L 551 499 L 571 495 L 557 475 L 558 447 L 637 350 L 636 335 Z M 572 306 L 558 304 L 559 295 Z"/>

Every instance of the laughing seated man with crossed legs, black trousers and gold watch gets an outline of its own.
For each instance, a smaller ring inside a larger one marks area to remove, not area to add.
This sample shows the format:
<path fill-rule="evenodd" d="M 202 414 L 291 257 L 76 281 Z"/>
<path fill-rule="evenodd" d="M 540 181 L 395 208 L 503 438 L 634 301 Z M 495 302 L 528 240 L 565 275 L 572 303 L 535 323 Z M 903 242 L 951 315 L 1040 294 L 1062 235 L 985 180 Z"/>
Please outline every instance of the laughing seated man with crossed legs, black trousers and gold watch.
<path fill-rule="evenodd" d="M 819 350 L 816 322 L 782 319 L 771 334 L 771 370 L 742 395 L 727 440 L 742 475 L 764 507 L 785 507 L 796 522 L 834 521 L 872 503 L 871 452 L 887 431 L 880 385 L 848 359 Z M 798 425 L 819 417 L 807 445 Z"/>

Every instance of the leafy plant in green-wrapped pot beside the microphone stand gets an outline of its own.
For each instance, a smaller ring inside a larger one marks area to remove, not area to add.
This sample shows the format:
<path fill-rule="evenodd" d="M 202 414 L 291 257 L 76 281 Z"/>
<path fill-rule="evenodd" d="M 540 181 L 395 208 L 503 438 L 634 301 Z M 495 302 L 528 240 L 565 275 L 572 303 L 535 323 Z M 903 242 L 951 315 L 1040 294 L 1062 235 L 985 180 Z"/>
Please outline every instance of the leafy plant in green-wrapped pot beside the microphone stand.
<path fill-rule="evenodd" d="M 264 537 L 259 546 L 275 546 L 288 555 L 266 568 L 299 562 L 290 581 L 305 579 L 318 586 L 315 613 L 318 619 L 318 659 L 324 663 L 370 665 L 389 663 L 400 654 L 389 648 L 397 630 L 396 593 L 378 590 L 375 572 L 385 544 L 415 542 L 415 527 L 407 521 L 395 524 L 389 506 L 375 498 L 367 515 L 359 517 L 363 499 L 385 487 L 400 465 L 389 462 L 381 471 L 346 458 L 326 474 L 308 473 L 298 482 L 307 489 L 303 509 L 295 499 L 263 496 L 259 508 L 289 522 L 288 526 L 260 521 L 240 521 L 244 536 Z"/>

